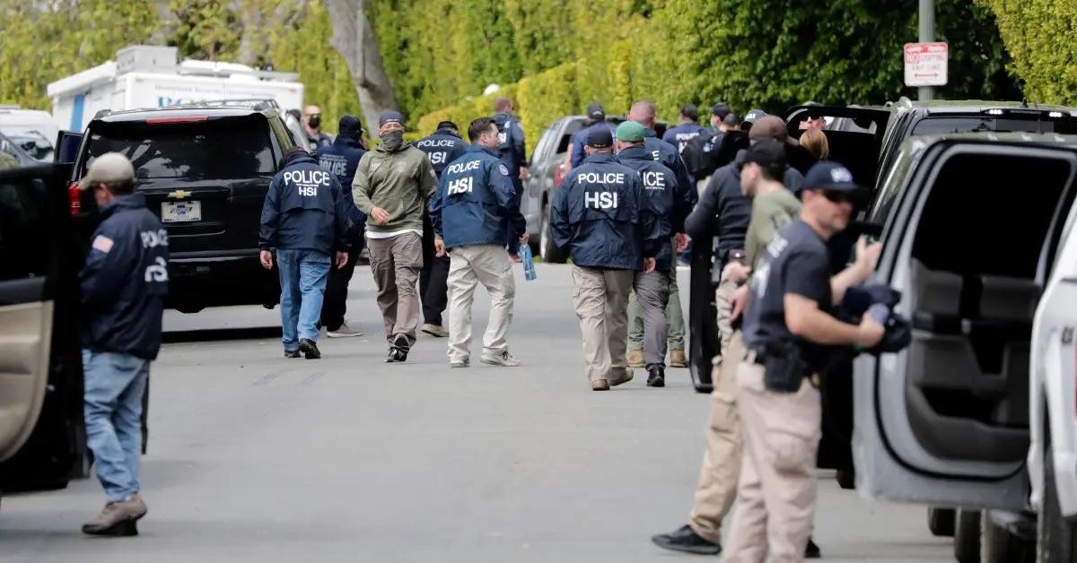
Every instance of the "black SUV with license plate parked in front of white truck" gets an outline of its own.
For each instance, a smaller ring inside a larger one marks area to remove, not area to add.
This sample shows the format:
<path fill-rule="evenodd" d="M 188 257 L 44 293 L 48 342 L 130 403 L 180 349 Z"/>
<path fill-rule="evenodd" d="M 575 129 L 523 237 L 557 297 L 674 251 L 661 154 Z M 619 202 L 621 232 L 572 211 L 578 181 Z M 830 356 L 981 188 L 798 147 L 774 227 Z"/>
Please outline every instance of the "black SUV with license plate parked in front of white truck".
<path fill-rule="evenodd" d="M 75 182 L 97 156 L 135 165 L 138 191 L 169 235 L 169 295 L 182 312 L 227 305 L 272 308 L 277 276 L 258 263 L 262 203 L 295 140 L 271 100 L 229 100 L 98 114 L 79 147 L 72 213 L 89 194 Z"/>

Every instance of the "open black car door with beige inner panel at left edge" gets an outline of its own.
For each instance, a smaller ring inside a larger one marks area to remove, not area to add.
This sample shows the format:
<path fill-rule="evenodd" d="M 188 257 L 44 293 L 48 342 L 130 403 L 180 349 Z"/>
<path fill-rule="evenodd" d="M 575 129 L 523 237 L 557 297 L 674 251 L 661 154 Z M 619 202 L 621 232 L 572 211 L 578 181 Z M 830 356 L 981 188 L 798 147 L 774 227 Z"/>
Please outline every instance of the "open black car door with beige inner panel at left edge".
<path fill-rule="evenodd" d="M 70 166 L 0 172 L 0 489 L 61 487 L 83 459 Z"/>

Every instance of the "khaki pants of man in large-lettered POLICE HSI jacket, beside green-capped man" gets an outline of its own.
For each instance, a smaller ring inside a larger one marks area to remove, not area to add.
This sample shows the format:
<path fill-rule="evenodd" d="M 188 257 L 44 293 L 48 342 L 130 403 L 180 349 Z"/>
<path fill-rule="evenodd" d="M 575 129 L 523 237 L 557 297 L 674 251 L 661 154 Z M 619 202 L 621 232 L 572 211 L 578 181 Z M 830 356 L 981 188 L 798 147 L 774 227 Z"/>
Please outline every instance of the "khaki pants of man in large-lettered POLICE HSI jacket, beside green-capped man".
<path fill-rule="evenodd" d="M 587 379 L 620 379 L 628 369 L 628 294 L 632 270 L 572 266 L 572 300 L 584 337 Z"/>

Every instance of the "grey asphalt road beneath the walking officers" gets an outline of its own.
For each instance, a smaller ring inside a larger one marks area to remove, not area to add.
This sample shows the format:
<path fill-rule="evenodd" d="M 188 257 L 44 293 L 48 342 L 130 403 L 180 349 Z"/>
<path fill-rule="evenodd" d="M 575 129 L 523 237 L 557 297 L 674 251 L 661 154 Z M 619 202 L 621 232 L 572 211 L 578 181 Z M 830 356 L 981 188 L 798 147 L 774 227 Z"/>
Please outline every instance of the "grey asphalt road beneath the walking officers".
<path fill-rule="evenodd" d="M 317 362 L 241 329 L 279 326 L 276 311 L 169 312 L 166 329 L 191 341 L 154 364 L 141 535 L 84 537 L 103 498 L 83 480 L 4 497 L 0 561 L 714 561 L 648 539 L 687 517 L 710 398 L 683 369 L 661 390 L 638 374 L 591 392 L 568 268 L 517 279 L 518 368 L 478 364 L 475 343 L 475 365 L 450 371 L 445 341 L 428 337 L 407 364 L 384 364 L 366 268 L 349 318 L 367 335 L 323 339 Z M 200 329 L 214 332 L 185 333 Z M 826 561 L 952 561 L 923 507 L 820 485 Z"/>

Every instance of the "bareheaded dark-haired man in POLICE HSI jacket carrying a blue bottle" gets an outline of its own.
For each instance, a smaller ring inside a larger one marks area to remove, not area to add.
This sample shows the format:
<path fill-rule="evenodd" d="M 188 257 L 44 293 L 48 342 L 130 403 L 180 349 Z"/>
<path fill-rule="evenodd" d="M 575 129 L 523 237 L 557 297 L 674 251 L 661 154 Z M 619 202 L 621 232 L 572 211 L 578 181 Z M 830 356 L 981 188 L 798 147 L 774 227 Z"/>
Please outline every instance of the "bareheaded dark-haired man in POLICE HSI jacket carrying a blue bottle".
<path fill-rule="evenodd" d="M 467 152 L 442 173 L 430 201 L 430 219 L 438 256 L 448 250 L 449 366 L 471 365 L 472 302 L 475 286 L 490 294 L 490 320 L 482 338 L 481 362 L 513 367 L 520 361 L 508 352 L 505 334 L 513 320 L 516 281 L 502 241 L 527 243 L 527 222 L 514 206 L 512 170 L 495 152 L 498 126 L 490 117 L 471 123 Z"/>

